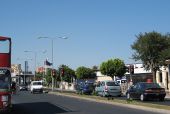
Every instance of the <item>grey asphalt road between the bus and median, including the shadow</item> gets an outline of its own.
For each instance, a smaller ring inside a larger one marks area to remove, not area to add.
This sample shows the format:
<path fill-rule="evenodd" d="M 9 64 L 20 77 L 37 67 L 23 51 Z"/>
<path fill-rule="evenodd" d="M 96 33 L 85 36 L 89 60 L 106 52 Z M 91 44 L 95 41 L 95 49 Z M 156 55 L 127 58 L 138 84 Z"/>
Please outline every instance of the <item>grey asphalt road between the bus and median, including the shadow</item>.
<path fill-rule="evenodd" d="M 52 94 L 18 92 L 12 96 L 11 114 L 158 114 Z"/>

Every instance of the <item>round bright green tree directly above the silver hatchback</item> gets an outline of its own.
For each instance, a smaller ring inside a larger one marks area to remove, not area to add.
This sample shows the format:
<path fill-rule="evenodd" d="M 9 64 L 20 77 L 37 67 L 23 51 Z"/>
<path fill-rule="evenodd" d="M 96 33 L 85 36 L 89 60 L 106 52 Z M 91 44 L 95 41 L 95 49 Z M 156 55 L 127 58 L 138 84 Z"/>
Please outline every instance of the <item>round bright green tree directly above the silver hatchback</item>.
<path fill-rule="evenodd" d="M 100 71 L 102 74 L 107 76 L 122 77 L 126 72 L 126 68 L 124 62 L 117 58 L 117 59 L 110 59 L 106 62 L 102 62 L 102 64 L 100 65 Z"/>

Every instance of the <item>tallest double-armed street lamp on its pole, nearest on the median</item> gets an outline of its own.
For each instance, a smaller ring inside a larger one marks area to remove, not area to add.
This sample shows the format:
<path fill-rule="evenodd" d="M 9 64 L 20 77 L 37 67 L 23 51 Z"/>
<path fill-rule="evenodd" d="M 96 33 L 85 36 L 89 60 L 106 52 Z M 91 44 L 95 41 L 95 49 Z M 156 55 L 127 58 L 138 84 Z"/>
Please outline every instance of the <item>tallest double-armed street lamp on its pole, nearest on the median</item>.
<path fill-rule="evenodd" d="M 50 39 L 51 40 L 51 62 L 52 62 L 52 70 L 54 68 L 54 62 L 53 62 L 53 40 L 59 38 L 59 39 L 68 39 L 68 37 L 38 37 L 38 39 Z M 54 77 L 51 73 L 51 78 L 52 78 L 52 91 L 54 90 Z"/>

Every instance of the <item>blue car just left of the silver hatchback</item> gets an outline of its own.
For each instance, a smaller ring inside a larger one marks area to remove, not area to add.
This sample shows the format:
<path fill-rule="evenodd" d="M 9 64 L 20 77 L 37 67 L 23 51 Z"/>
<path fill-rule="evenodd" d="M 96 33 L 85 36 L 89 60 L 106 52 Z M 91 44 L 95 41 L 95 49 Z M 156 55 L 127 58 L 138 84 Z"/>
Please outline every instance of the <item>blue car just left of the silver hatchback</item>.
<path fill-rule="evenodd" d="M 92 94 L 94 91 L 94 84 L 90 82 L 80 82 L 76 86 L 76 93 L 78 94 Z"/>

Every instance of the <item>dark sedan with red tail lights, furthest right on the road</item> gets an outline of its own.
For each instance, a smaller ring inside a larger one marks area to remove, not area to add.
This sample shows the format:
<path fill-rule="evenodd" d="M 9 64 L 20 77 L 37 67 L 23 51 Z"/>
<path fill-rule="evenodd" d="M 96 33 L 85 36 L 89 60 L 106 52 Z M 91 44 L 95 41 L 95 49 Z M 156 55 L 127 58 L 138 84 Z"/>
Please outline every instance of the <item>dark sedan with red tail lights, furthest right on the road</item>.
<path fill-rule="evenodd" d="M 157 83 L 139 82 L 131 86 L 126 93 L 127 99 L 140 99 L 145 101 L 148 99 L 159 99 L 164 101 L 166 92 Z"/>

